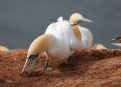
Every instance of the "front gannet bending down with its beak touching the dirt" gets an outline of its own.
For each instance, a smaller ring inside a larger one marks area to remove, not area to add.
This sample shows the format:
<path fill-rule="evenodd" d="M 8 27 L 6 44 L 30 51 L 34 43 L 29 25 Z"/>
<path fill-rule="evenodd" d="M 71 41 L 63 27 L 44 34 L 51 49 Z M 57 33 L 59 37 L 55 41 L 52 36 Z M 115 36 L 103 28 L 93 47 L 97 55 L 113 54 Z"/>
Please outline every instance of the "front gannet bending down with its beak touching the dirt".
<path fill-rule="evenodd" d="M 39 36 L 31 43 L 22 73 L 25 71 L 29 62 L 32 61 L 32 65 L 29 69 L 30 74 L 34 64 L 43 52 L 46 53 L 47 58 L 45 66 L 43 66 L 42 69 L 51 70 L 51 68 L 48 67 L 48 59 L 62 63 L 73 54 L 72 50 L 76 49 L 75 43 L 76 38 L 70 23 L 60 17 L 58 22 L 52 23 L 47 27 L 45 34 Z"/>

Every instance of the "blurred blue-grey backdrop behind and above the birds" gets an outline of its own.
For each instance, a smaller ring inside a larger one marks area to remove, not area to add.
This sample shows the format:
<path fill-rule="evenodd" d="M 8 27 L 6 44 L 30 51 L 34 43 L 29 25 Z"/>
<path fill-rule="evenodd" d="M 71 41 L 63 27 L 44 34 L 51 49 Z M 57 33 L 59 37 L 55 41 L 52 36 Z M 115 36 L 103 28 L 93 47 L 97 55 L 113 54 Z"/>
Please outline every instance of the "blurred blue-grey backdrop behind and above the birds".
<path fill-rule="evenodd" d="M 0 45 L 28 48 L 50 19 L 67 20 L 74 12 L 94 21 L 84 25 L 94 36 L 93 44 L 118 48 L 110 40 L 121 32 L 121 0 L 0 0 Z"/>

